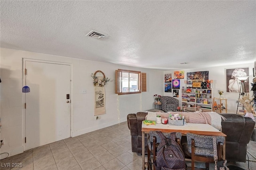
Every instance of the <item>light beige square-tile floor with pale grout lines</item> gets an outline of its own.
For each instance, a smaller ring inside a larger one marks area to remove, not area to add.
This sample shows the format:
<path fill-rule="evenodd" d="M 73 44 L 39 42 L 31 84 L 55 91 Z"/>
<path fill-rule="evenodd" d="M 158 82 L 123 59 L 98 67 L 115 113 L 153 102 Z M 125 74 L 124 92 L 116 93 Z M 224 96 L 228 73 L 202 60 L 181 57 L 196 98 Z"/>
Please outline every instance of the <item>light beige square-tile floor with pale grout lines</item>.
<path fill-rule="evenodd" d="M 255 152 L 256 143 L 250 148 Z M 6 163 L 22 163 L 23 167 L 3 167 Z M 28 150 L 0 164 L 1 170 L 141 170 L 142 157 L 132 152 L 130 130 L 127 122 L 122 122 Z M 250 165 L 250 170 L 256 170 L 255 162 Z M 246 169 L 247 162 L 238 162 L 237 166 Z M 210 170 L 214 170 L 213 164 Z"/>

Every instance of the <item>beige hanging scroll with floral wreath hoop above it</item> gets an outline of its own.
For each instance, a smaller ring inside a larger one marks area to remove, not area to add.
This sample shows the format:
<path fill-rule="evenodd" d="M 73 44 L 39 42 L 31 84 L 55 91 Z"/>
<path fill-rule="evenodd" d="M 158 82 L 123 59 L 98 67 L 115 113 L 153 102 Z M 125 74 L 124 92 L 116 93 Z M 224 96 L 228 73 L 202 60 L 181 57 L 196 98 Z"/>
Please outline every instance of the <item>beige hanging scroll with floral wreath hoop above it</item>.
<path fill-rule="evenodd" d="M 110 79 L 106 78 L 105 74 L 100 70 L 96 71 L 94 74 L 91 74 L 91 77 L 93 78 L 95 96 L 94 115 L 98 116 L 106 113 L 106 95 L 104 86 Z"/>

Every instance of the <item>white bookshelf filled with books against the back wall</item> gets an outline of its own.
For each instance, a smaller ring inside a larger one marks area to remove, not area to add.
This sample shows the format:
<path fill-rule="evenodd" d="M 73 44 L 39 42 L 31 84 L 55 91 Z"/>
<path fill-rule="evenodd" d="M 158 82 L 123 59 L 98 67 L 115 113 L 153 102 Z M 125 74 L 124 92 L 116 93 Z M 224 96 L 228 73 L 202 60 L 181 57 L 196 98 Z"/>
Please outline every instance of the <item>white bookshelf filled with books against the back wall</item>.
<path fill-rule="evenodd" d="M 181 109 L 187 112 L 211 112 L 212 89 L 182 88 Z"/>

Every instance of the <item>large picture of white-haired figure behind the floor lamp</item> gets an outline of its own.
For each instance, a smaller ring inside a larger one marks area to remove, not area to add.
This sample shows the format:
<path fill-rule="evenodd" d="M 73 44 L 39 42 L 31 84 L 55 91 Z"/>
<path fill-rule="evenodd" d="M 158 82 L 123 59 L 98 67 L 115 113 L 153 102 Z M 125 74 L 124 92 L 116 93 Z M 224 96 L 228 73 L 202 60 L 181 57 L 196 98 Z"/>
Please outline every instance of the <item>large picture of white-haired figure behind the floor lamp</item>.
<path fill-rule="evenodd" d="M 241 81 L 237 77 L 249 76 L 249 68 L 226 69 L 227 92 L 240 92 Z M 249 78 L 248 78 L 249 79 Z M 249 80 L 244 82 L 246 92 L 249 92 Z"/>

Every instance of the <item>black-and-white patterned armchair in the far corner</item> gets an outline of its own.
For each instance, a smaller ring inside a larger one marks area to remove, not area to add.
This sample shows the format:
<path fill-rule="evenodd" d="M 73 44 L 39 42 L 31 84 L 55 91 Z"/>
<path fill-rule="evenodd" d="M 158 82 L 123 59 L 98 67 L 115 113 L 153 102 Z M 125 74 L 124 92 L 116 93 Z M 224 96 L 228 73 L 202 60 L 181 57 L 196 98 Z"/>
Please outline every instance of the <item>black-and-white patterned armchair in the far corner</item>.
<path fill-rule="evenodd" d="M 175 111 L 179 106 L 179 100 L 171 96 L 161 96 L 160 101 L 162 102 L 161 109 L 164 112 Z"/>

